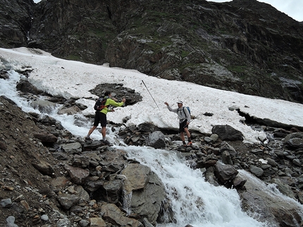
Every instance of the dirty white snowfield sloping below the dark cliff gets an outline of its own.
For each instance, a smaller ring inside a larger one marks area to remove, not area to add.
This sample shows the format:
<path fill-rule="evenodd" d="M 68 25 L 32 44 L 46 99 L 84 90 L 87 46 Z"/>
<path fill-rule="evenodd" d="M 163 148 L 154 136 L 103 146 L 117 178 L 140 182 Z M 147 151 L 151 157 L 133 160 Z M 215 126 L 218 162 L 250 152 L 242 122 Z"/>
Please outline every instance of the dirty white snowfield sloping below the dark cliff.
<path fill-rule="evenodd" d="M 168 111 L 164 102 L 178 108 L 176 102 L 183 100 L 184 105 L 190 107 L 192 115 L 197 117 L 190 122 L 190 131 L 211 134 L 214 125 L 228 124 L 242 131 L 247 143 L 266 141 L 264 131 L 256 131 L 244 124 L 244 117 L 233 109 L 240 109 L 252 117 L 303 127 L 303 105 L 299 103 L 211 89 L 190 82 L 158 79 L 136 70 L 109 67 L 106 64 L 63 60 L 39 49 L 0 48 L 0 60 L 0 68 L 32 70 L 28 80 L 38 89 L 53 96 L 79 98 L 77 102 L 87 106 L 82 111 L 86 116 L 94 115 L 94 100 L 98 97 L 89 90 L 98 84 L 117 83 L 135 89 L 143 97 L 141 102 L 135 105 L 126 103 L 125 107 L 116 108 L 115 112 L 107 115 L 115 123 L 122 123 L 123 118 L 130 117 L 128 126 L 153 122 L 160 128 L 177 130 L 178 117 Z M 206 117 L 203 115 L 205 112 L 213 116 Z"/>

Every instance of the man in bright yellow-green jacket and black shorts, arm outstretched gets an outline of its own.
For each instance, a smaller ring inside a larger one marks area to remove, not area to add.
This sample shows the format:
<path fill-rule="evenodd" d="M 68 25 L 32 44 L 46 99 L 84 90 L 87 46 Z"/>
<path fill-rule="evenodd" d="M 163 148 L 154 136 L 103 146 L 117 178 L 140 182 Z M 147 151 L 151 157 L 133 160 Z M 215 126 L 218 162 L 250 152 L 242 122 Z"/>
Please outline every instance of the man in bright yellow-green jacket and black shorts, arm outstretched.
<path fill-rule="evenodd" d="M 122 102 L 116 103 L 115 100 L 111 98 L 111 91 L 106 91 L 104 93 L 104 98 L 106 98 L 106 103 L 104 104 L 104 108 L 100 111 L 96 111 L 94 115 L 94 125 L 91 129 L 89 129 L 87 136 L 85 137 L 85 141 L 91 141 L 92 139 L 89 138 L 90 134 L 94 131 L 94 129 L 97 129 L 98 124 L 101 124 L 101 134 L 102 134 L 102 140 L 101 143 L 104 145 L 109 145 L 109 141 L 106 141 L 106 115 L 108 112 L 114 112 L 115 110 L 109 110 L 108 106 L 113 105 L 116 107 L 122 106 L 125 103 L 125 98 L 122 99 Z"/>

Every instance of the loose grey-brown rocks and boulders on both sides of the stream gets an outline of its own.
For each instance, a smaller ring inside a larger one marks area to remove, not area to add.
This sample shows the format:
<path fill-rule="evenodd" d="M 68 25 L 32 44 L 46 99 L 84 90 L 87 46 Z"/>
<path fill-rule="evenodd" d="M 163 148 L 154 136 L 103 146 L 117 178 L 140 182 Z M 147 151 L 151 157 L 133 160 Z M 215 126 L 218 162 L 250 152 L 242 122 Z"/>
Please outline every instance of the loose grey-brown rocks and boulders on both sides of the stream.
<path fill-rule="evenodd" d="M 1 79 L 5 78 L 2 72 Z M 103 86 L 92 92 L 99 93 Z M 21 96 L 44 111 L 56 103 L 63 104 L 61 113 L 85 108 L 60 97 L 39 100 L 40 91 L 26 82 L 17 87 L 23 91 Z M 118 84 L 112 84 L 112 89 L 117 98 L 140 101 L 140 94 L 134 96 L 132 89 Z M 78 118 L 75 124 L 81 126 L 87 120 Z M 194 144 L 185 148 L 175 143 L 180 139 L 175 132 L 150 123 L 120 129 L 118 135 L 129 145 L 150 145 L 185 157 L 214 186 L 237 188 L 242 209 L 252 213 L 258 209 L 260 220 L 271 226 L 302 226 L 302 211 L 295 202 L 277 202 L 260 190 L 260 183 L 239 174 L 245 169 L 261 181 L 275 183 L 281 193 L 303 204 L 302 132 L 259 124 L 252 127 L 265 130 L 268 140 L 247 145 L 239 131 L 215 126 L 211 135 L 192 131 Z M 85 142 L 55 119 L 25 113 L 4 96 L 0 97 L 0 128 L 1 226 L 151 227 L 163 221 L 163 213 L 169 214 L 166 221 L 174 221 L 163 183 L 149 167 L 130 160 L 125 151 L 99 141 Z M 132 193 L 131 213 L 125 209 L 125 193 Z"/>

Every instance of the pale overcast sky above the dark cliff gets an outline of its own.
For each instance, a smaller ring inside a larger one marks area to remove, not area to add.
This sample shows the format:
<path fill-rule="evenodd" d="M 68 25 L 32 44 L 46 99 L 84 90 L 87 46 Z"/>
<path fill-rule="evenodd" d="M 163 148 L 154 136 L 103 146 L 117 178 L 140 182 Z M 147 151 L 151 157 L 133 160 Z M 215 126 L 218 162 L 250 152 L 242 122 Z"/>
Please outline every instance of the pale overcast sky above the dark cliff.
<path fill-rule="evenodd" d="M 34 0 L 34 1 L 35 3 L 38 3 L 41 0 Z M 212 1 L 226 2 L 226 0 L 212 0 Z M 278 11 L 281 11 L 289 15 L 291 18 L 299 22 L 303 21 L 303 13 L 302 13 L 303 0 L 259 0 L 259 1 L 270 4 L 271 6 L 278 9 Z"/>

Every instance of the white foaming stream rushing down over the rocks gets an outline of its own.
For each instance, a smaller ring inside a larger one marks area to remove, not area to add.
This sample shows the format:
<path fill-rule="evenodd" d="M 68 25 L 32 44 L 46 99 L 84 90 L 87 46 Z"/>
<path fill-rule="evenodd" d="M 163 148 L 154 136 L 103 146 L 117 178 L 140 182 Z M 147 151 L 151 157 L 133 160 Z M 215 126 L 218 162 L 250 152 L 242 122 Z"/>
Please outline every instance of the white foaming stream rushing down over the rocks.
<path fill-rule="evenodd" d="M 28 105 L 27 100 L 18 96 L 16 82 L 19 81 L 20 75 L 13 71 L 9 74 L 11 79 L 0 80 L 0 95 L 11 98 L 25 112 L 37 112 Z M 85 136 L 92 124 L 90 122 L 85 127 L 76 126 L 75 119 L 85 119 L 81 115 L 56 115 L 54 112 L 51 117 L 60 121 L 63 127 L 76 136 Z M 93 136 L 99 136 L 99 132 L 95 130 Z M 109 141 L 115 143 L 117 138 L 113 132 L 109 131 Z M 120 144 L 123 142 L 120 141 Z M 240 197 L 236 190 L 223 186 L 215 187 L 207 183 L 202 172 L 199 169 L 191 169 L 189 164 L 178 156 L 177 152 L 149 147 L 118 145 L 114 147 L 127 151 L 131 158 L 150 167 L 166 186 L 177 223 L 159 226 L 183 227 L 187 224 L 192 224 L 194 227 L 266 226 L 265 223 L 256 221 L 242 212 Z"/>

